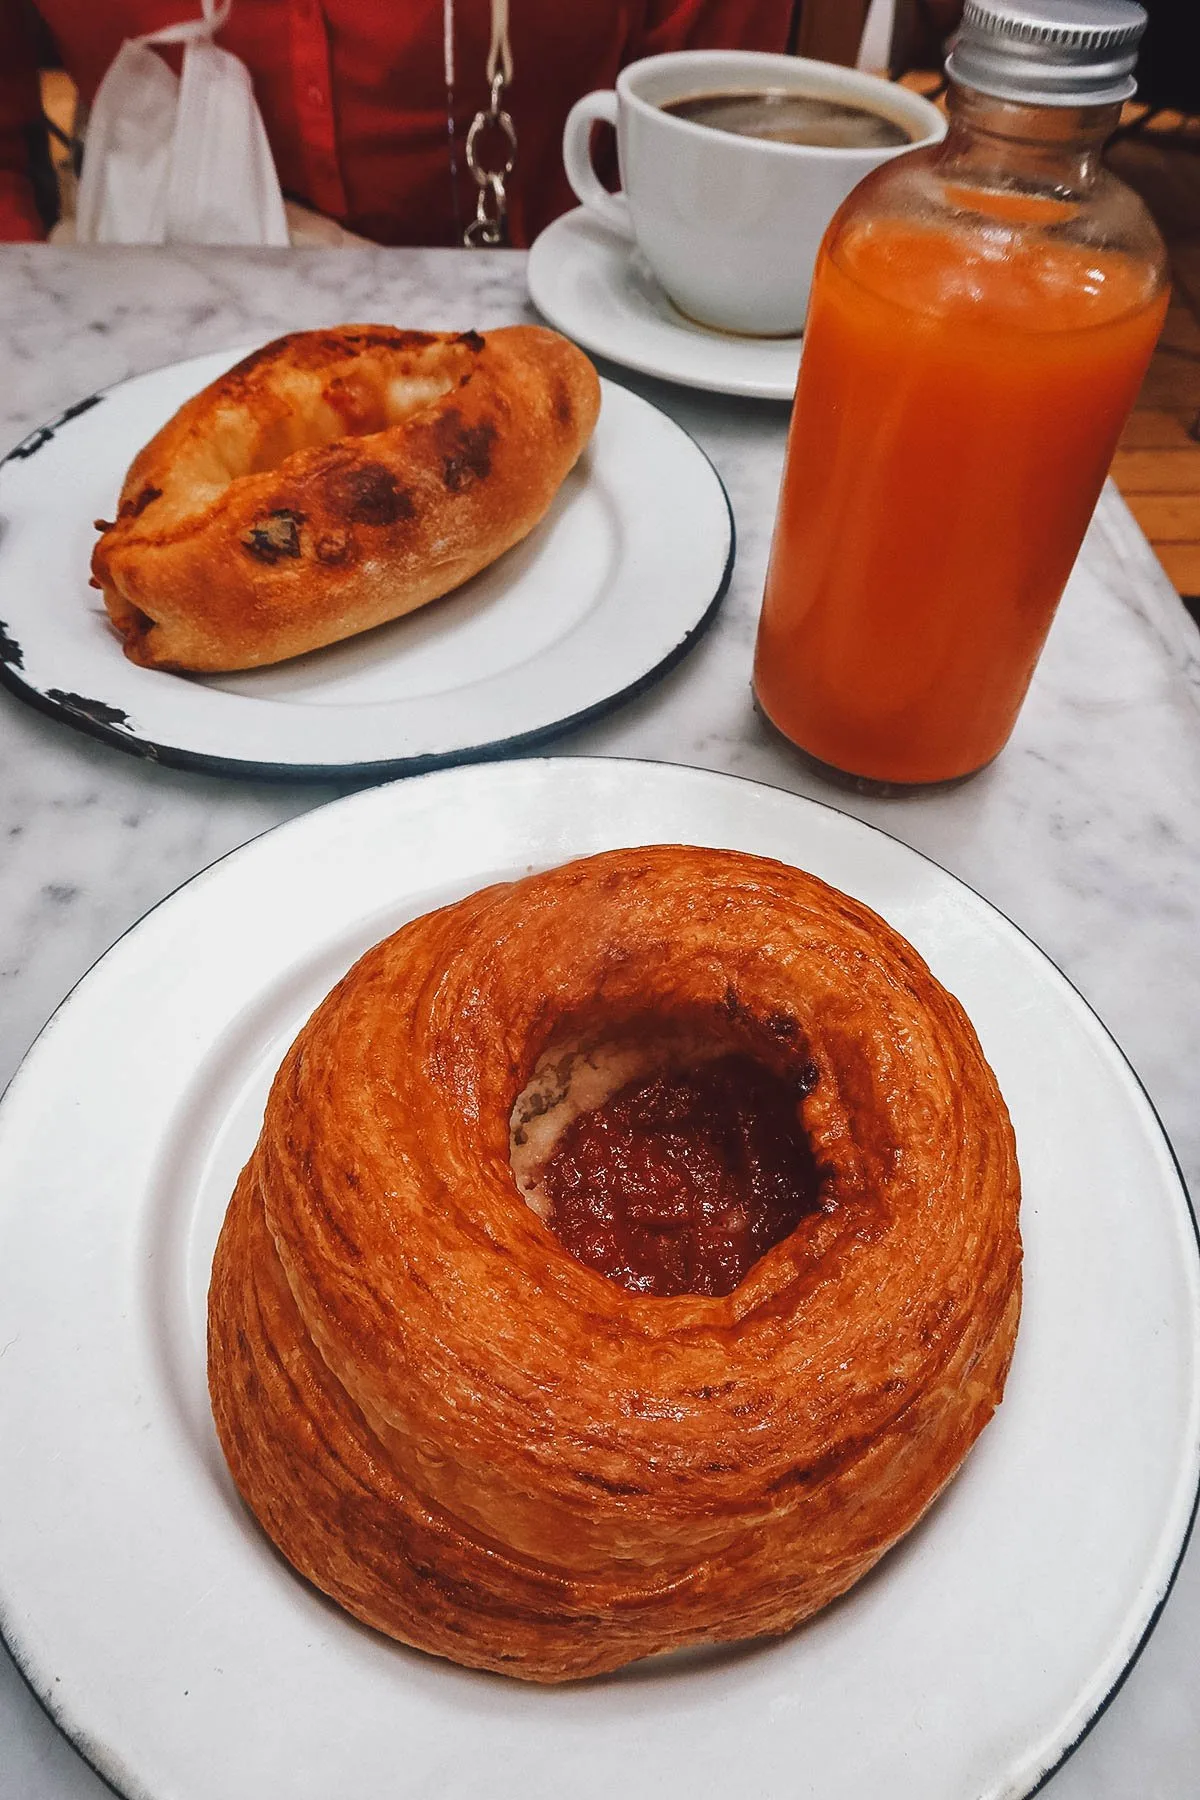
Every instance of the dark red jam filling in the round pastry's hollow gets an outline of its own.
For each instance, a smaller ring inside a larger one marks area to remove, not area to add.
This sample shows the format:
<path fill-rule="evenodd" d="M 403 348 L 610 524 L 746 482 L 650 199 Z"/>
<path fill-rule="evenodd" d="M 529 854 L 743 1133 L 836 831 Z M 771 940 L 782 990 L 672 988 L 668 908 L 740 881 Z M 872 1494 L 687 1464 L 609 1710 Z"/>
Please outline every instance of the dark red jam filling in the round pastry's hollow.
<path fill-rule="evenodd" d="M 628 1082 L 542 1170 L 552 1231 L 635 1294 L 732 1294 L 820 1206 L 806 1091 L 739 1053 Z"/>

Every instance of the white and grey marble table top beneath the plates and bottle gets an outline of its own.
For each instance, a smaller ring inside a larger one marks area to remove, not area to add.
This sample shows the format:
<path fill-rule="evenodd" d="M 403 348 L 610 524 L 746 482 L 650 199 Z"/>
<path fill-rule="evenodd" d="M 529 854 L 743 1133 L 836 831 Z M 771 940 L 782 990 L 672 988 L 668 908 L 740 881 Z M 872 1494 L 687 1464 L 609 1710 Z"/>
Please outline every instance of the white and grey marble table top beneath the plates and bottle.
<path fill-rule="evenodd" d="M 516 252 L 5 247 L 0 450 L 122 376 L 282 329 L 345 319 L 486 329 L 533 317 Z M 786 409 L 604 373 L 709 452 L 738 518 L 738 565 L 698 648 L 556 749 L 750 776 L 831 801 L 932 855 L 1029 932 L 1099 1012 L 1200 1192 L 1200 635 L 1119 495 L 1108 490 L 1097 508 L 999 761 L 950 792 L 856 797 L 806 772 L 750 706 Z M 0 691 L 0 1087 L 72 983 L 148 907 L 342 790 L 153 767 Z M 1193 1552 L 1124 1687 L 1052 1777 L 1054 1800 L 1191 1796 L 1198 1670 Z M 0 1795 L 103 1793 L 0 1649 Z"/>

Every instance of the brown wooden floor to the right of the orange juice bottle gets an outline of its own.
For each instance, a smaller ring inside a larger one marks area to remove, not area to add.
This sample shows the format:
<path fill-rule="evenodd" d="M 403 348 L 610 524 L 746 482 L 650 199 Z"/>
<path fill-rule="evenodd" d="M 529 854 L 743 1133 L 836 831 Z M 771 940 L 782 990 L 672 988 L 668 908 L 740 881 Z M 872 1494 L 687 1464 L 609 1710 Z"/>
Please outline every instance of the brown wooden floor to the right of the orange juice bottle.
<path fill-rule="evenodd" d="M 1112 475 L 1200 623 L 1200 121 L 1164 113 L 1108 151 L 1171 254 L 1173 299 Z"/>

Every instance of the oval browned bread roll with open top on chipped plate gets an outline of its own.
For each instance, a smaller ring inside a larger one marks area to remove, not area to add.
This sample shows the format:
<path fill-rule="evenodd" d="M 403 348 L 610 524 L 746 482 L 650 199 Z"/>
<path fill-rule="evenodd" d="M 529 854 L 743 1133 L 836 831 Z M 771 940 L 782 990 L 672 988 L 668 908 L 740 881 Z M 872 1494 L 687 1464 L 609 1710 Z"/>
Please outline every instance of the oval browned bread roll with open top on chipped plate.
<path fill-rule="evenodd" d="M 277 338 L 133 459 L 92 578 L 146 668 L 245 670 L 423 607 L 543 517 L 599 382 L 556 331 Z"/>

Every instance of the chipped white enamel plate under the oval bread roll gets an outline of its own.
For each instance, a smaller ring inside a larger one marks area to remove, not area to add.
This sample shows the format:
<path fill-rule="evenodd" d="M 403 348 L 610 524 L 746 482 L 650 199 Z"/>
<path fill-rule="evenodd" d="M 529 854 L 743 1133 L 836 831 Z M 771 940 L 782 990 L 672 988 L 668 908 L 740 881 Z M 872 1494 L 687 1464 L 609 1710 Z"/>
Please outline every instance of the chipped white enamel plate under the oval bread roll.
<path fill-rule="evenodd" d="M 228 774 L 407 774 L 540 743 L 666 673 L 725 592 L 721 481 L 648 401 L 603 382 L 542 524 L 464 587 L 327 650 L 237 675 L 126 661 L 88 565 L 124 472 L 237 351 L 68 409 L 0 466 L 0 679 L 130 751 Z"/>

